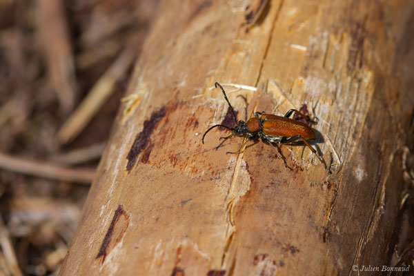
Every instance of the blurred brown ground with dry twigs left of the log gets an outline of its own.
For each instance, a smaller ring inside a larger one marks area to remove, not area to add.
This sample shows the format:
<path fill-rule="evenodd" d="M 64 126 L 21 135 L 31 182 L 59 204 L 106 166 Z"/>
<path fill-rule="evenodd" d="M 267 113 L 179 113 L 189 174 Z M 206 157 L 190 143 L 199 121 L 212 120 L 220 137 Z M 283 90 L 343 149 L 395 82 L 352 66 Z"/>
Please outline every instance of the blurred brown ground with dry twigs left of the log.
<path fill-rule="evenodd" d="M 0 275 L 57 275 L 157 0 L 0 0 Z"/>

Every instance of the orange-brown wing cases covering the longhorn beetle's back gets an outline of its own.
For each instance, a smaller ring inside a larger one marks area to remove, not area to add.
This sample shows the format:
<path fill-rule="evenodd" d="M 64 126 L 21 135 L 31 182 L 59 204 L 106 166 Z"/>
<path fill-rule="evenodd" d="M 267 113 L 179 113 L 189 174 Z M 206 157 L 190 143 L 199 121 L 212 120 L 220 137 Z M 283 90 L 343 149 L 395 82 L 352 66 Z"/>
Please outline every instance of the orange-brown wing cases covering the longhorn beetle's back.
<path fill-rule="evenodd" d="M 279 116 L 277 116 L 277 119 L 268 119 L 264 121 L 262 132 L 264 135 L 268 136 L 293 137 L 300 135 L 304 139 L 316 138 L 312 128 L 302 123 L 302 121 Z"/>

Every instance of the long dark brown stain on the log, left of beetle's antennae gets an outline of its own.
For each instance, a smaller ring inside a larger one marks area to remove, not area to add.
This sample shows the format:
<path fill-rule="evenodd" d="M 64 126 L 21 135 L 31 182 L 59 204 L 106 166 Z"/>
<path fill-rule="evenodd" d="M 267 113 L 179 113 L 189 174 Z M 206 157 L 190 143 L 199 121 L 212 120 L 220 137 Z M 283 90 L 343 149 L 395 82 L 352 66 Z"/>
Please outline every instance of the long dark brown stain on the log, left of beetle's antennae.
<path fill-rule="evenodd" d="M 144 128 L 142 128 L 141 132 L 139 132 L 139 134 L 135 137 L 135 140 L 132 143 L 130 151 L 126 157 L 126 159 L 128 159 L 128 164 L 126 164 L 126 170 L 128 170 L 128 172 L 130 172 L 130 170 L 134 167 L 139 153 L 144 150 L 148 144 L 148 141 L 150 141 L 150 136 L 152 135 L 155 126 L 157 126 L 157 123 L 164 118 L 165 115 L 166 108 L 163 107 L 160 110 L 152 112 L 150 119 L 144 121 Z"/>

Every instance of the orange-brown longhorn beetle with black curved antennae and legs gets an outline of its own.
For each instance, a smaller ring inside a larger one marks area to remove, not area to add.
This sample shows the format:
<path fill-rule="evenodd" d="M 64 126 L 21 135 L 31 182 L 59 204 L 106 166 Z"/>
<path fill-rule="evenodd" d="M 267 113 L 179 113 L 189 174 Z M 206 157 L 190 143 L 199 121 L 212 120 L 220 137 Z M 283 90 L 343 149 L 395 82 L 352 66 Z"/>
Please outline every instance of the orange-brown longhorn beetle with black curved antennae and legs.
<path fill-rule="evenodd" d="M 293 141 L 296 141 L 297 139 L 302 139 L 306 146 L 312 150 L 313 153 L 317 156 L 317 158 L 322 162 L 324 166 L 325 163 L 319 155 L 317 155 L 316 150 L 311 147 L 311 145 L 308 143 L 307 139 L 316 139 L 315 132 L 310 128 L 307 124 L 302 123 L 302 121 L 297 121 L 295 119 L 290 119 L 290 115 L 292 115 L 293 112 L 296 112 L 297 115 L 300 117 L 306 119 L 306 121 L 311 121 L 311 118 L 308 116 L 302 114 L 302 112 L 299 112 L 295 109 L 290 109 L 284 117 L 277 116 L 277 115 L 271 115 L 266 114 L 264 112 L 255 112 L 255 117 L 248 119 L 247 122 L 245 121 L 237 121 L 237 117 L 235 114 L 235 110 L 233 110 L 233 107 L 230 104 L 230 101 L 228 101 L 226 92 L 224 92 L 224 89 L 221 87 L 221 85 L 216 82 L 215 87 L 221 89 L 224 95 L 224 99 L 226 99 L 228 106 L 230 106 L 230 110 L 233 113 L 233 117 L 235 119 L 235 127 L 230 128 L 228 126 L 217 124 L 215 126 L 212 126 L 211 128 L 208 128 L 206 132 L 204 132 L 203 138 L 201 141 L 204 144 L 204 137 L 206 137 L 206 134 L 212 130 L 213 128 L 217 128 L 218 126 L 222 128 L 227 128 L 229 130 L 233 130 L 234 136 L 245 136 L 248 137 L 246 142 L 242 144 L 242 146 L 239 148 L 237 152 L 240 152 L 242 150 L 243 146 L 249 141 L 249 139 L 257 139 L 260 138 L 264 142 L 269 143 L 275 143 L 275 144 L 286 144 L 286 143 L 292 143 Z M 230 135 L 232 136 L 232 135 Z M 228 137 L 230 137 L 228 136 Z M 228 137 L 224 137 L 227 139 Z M 230 153 L 237 153 L 237 152 L 230 152 Z"/>

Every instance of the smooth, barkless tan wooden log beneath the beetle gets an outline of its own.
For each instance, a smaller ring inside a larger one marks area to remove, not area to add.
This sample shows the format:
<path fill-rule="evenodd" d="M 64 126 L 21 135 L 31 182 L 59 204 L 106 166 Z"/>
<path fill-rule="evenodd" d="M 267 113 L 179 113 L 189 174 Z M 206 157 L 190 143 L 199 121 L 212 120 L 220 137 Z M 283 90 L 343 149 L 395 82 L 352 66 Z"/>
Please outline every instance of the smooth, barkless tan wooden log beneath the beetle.
<path fill-rule="evenodd" d="M 161 1 L 61 275 L 348 275 L 390 266 L 413 115 L 411 1 Z M 250 19 L 249 19 L 250 21 Z M 213 124 L 290 108 L 312 146 Z M 246 101 L 242 97 L 246 98 Z M 246 102 L 248 108 L 246 108 Z"/>

